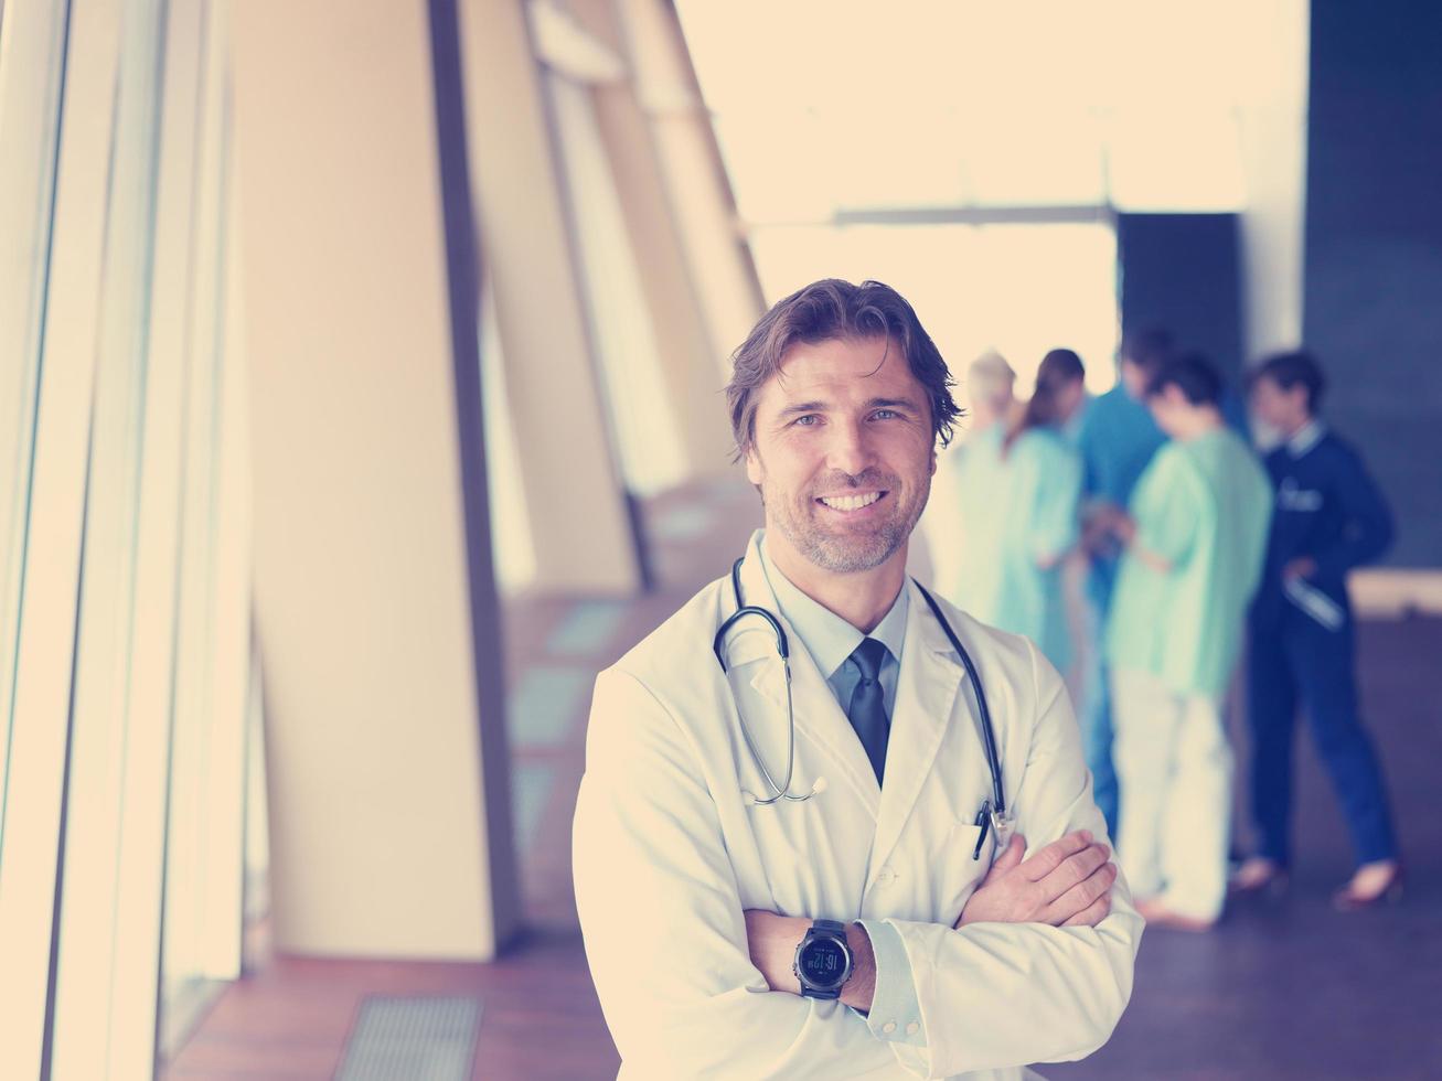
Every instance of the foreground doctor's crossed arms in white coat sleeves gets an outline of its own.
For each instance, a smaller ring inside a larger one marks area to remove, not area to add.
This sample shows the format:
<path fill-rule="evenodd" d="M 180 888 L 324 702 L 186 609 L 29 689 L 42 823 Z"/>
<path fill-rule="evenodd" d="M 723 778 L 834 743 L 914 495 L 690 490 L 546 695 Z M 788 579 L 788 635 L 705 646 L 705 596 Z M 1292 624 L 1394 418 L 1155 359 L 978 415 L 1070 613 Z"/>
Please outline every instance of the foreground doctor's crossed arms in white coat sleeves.
<path fill-rule="evenodd" d="M 910 961 L 924 1048 L 875 1038 L 859 1002 L 846 1009 L 776 993 L 792 979 L 799 922 L 743 911 L 738 875 L 764 872 L 733 862 L 741 855 L 728 850 L 698 771 L 707 754 L 646 685 L 603 673 L 574 871 L 623 1075 L 945 1078 L 1100 1046 L 1131 996 L 1141 920 L 1125 884 L 1109 882 L 1105 849 L 1079 836 L 1105 827 L 1061 682 L 1050 666 L 1035 669 L 1037 716 L 1011 803 L 1034 840 L 1060 848 L 1045 845 L 1030 860 L 1019 848 L 1004 853 L 955 925 L 885 920 Z"/>

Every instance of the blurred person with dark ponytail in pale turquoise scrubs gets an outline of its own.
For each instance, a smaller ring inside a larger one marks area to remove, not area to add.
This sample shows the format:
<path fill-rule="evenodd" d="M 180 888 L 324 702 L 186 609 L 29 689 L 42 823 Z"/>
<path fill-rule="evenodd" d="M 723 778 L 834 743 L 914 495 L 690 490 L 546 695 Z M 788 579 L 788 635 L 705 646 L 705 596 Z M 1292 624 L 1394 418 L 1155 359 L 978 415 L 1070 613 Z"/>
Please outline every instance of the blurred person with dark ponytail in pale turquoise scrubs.
<path fill-rule="evenodd" d="M 1086 399 L 1086 369 L 1070 349 L 1053 349 L 1037 369 L 1037 388 L 1001 444 L 996 504 L 969 500 L 969 516 L 996 515 L 1002 535 L 995 564 L 995 607 L 972 611 L 1014 634 L 1025 634 L 1058 672 L 1071 667 L 1071 634 L 1061 588 L 1061 561 L 1077 542 L 1082 458 L 1063 425 Z"/>

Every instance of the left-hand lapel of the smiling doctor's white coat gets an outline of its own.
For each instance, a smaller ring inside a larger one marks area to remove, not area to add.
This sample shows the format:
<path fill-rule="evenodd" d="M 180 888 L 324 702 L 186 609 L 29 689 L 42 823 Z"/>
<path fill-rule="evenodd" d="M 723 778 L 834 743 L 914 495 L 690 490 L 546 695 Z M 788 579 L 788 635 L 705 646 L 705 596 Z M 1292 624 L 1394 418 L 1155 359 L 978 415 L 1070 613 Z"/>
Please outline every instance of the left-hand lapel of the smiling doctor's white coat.
<path fill-rule="evenodd" d="M 782 621 L 790 646 L 792 657 L 792 703 L 796 715 L 797 738 L 809 739 L 826 761 L 818 773 L 828 783 L 842 781 L 874 819 L 881 801 L 881 788 L 877 775 L 871 768 L 871 760 L 857 738 L 855 729 L 836 702 L 826 677 L 816 667 L 810 653 L 802 644 L 800 636 L 780 614 L 776 594 L 771 592 L 766 581 L 766 571 L 761 566 L 758 551 L 761 532 L 751 535 L 751 543 L 746 549 L 746 561 L 741 564 L 741 592 L 747 604 L 764 605 Z M 774 662 L 774 641 L 771 634 L 761 626 L 760 620 L 747 621 L 748 627 L 764 631 L 767 651 L 773 663 L 757 664 L 751 677 L 751 688 L 774 706 L 776 724 L 786 724 L 786 675 L 779 662 Z M 910 633 L 910 631 L 908 631 Z M 740 634 L 740 628 L 738 628 Z M 747 634 L 748 659 L 757 656 L 760 637 Z"/>

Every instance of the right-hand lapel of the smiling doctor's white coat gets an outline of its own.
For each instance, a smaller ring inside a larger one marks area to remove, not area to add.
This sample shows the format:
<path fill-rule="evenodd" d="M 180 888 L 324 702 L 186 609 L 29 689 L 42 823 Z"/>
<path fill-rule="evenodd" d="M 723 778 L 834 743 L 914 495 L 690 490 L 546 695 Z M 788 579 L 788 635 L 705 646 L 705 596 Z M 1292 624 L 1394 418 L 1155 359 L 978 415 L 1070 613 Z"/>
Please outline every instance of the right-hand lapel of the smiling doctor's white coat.
<path fill-rule="evenodd" d="M 867 871 L 867 888 L 895 848 L 916 806 L 921 786 L 946 735 L 956 695 L 962 685 L 962 664 L 946 631 L 916 585 L 907 605 L 906 644 L 901 647 L 901 673 L 897 680 L 895 706 L 891 711 L 891 735 L 887 741 L 885 784 L 877 816 L 877 837 Z"/>

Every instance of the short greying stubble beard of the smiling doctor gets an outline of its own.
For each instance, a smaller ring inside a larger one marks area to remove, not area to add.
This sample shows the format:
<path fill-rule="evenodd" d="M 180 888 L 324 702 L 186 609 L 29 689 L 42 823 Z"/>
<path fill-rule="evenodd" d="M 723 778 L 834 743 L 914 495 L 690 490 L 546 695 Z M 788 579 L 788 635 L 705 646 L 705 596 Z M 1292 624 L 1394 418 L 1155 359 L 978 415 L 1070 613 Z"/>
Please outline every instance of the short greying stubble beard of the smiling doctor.
<path fill-rule="evenodd" d="M 818 504 L 816 491 L 835 493 L 844 487 L 864 491 L 881 490 L 885 513 L 865 525 L 848 526 L 845 520 L 828 522 L 831 515 Z M 911 536 L 930 493 L 930 476 L 924 476 L 920 491 L 903 496 L 901 480 L 888 473 L 867 470 L 857 477 L 845 473 L 818 479 L 806 491 L 787 497 L 764 483 L 761 504 L 769 525 L 780 530 L 809 564 L 831 574 L 871 571 L 890 559 Z"/>

